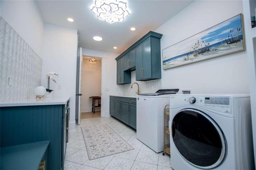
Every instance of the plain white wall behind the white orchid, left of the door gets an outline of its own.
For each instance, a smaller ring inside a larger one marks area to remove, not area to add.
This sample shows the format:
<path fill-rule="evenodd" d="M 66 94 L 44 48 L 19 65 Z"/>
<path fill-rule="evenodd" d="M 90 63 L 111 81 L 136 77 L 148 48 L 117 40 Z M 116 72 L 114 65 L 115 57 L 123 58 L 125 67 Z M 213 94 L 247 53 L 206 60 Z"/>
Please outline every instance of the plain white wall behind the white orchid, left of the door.
<path fill-rule="evenodd" d="M 45 24 L 42 53 L 42 86 L 47 87 L 46 73 L 59 74 L 50 81 L 53 97 L 70 96 L 70 130 L 75 129 L 77 30 Z M 58 89 L 60 85 L 60 89 Z"/>

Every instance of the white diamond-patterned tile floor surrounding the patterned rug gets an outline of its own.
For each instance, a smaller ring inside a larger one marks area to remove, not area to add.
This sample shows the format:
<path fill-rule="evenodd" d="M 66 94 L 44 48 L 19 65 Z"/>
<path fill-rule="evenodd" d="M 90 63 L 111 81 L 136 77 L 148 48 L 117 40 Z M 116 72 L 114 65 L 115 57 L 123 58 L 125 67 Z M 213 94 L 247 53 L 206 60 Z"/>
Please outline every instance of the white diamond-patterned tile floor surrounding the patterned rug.
<path fill-rule="evenodd" d="M 89 160 L 81 126 L 107 124 L 134 150 Z M 76 131 L 69 132 L 64 170 L 172 170 L 170 155 L 156 153 L 138 139 L 136 131 L 112 117 L 82 119 Z"/>

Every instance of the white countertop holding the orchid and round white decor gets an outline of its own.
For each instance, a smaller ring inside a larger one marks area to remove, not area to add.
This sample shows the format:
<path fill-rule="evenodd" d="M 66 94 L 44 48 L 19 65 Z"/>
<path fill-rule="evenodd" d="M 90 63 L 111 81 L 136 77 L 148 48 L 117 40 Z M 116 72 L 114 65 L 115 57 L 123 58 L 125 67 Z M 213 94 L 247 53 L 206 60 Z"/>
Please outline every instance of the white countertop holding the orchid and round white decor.
<path fill-rule="evenodd" d="M 65 105 L 70 97 L 46 97 L 43 101 L 37 101 L 36 99 L 22 99 L 14 101 L 6 101 L 0 103 L 0 107 L 12 107 L 12 106 L 39 106 L 39 105 Z"/>

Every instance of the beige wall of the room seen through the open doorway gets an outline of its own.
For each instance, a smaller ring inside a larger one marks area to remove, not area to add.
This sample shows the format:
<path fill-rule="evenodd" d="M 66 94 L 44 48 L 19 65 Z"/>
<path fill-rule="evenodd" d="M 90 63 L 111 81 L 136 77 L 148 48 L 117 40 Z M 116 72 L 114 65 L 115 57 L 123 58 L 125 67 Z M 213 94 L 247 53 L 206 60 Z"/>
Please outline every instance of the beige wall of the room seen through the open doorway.
<path fill-rule="evenodd" d="M 92 111 L 90 96 L 101 96 L 101 59 L 98 58 L 96 63 L 90 63 L 89 58 L 83 57 L 81 112 Z M 98 100 L 95 104 L 98 105 Z M 95 111 L 100 111 L 100 107 L 96 107 Z"/>

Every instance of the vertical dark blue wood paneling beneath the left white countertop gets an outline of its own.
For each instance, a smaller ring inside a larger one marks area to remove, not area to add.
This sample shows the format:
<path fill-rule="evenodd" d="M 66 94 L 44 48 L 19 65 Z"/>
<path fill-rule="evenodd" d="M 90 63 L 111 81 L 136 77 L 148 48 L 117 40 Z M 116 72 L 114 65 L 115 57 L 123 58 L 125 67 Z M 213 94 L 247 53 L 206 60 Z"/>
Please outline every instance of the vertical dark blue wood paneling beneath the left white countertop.
<path fill-rule="evenodd" d="M 63 169 L 63 124 L 65 105 L 0 108 L 0 146 L 50 140 L 48 168 Z"/>

